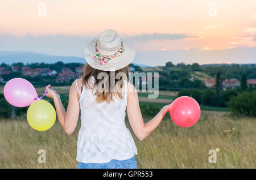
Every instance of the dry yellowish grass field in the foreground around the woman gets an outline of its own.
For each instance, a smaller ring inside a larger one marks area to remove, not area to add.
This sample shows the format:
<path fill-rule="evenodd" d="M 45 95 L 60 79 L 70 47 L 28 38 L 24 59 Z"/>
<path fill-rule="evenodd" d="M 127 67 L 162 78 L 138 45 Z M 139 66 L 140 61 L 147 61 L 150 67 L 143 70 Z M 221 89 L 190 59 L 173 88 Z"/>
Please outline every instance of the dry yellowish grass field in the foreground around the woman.
<path fill-rule="evenodd" d="M 164 119 L 144 141 L 134 136 L 138 168 L 255 168 L 256 119 L 207 114 L 193 127 Z M 0 168 L 76 168 L 79 127 L 71 136 L 59 123 L 39 132 L 25 118 L 0 120 Z M 210 164 L 208 152 L 216 148 L 217 163 Z M 46 151 L 46 164 L 38 163 L 39 149 Z"/>

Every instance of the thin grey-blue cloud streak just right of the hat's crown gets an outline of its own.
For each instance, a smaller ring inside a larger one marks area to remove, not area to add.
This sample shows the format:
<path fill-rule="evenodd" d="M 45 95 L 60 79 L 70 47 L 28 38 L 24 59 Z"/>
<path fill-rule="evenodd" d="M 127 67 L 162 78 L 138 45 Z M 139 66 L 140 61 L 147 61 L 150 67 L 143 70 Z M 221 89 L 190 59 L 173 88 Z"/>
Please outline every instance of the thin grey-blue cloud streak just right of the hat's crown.
<path fill-rule="evenodd" d="M 196 36 L 188 36 L 184 34 L 168 34 L 168 33 L 152 33 L 152 34 L 141 34 L 131 36 L 131 40 L 135 41 L 150 41 L 150 40 L 180 40 L 187 37 L 196 37 Z"/>

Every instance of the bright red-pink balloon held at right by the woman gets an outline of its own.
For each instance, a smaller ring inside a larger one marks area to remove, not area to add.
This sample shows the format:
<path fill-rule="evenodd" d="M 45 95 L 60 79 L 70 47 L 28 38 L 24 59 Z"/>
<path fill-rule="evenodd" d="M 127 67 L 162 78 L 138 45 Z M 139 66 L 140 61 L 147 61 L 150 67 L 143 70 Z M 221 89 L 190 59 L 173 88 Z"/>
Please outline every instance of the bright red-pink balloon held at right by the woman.
<path fill-rule="evenodd" d="M 172 102 L 170 114 L 172 121 L 181 127 L 190 127 L 197 123 L 201 110 L 192 97 L 181 96 Z"/>

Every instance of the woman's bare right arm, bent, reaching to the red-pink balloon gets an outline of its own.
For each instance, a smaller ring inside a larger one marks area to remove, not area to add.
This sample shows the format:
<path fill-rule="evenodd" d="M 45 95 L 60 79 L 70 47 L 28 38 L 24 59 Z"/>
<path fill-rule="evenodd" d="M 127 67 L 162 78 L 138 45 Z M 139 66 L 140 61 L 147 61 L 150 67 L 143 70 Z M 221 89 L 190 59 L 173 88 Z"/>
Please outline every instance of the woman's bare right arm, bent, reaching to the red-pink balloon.
<path fill-rule="evenodd" d="M 139 108 L 138 93 L 134 85 L 129 84 L 127 94 L 127 115 L 131 128 L 139 140 L 144 140 L 156 127 L 158 127 L 164 115 L 166 115 L 170 108 L 171 104 L 164 106 L 154 118 L 144 124 L 141 109 Z"/>

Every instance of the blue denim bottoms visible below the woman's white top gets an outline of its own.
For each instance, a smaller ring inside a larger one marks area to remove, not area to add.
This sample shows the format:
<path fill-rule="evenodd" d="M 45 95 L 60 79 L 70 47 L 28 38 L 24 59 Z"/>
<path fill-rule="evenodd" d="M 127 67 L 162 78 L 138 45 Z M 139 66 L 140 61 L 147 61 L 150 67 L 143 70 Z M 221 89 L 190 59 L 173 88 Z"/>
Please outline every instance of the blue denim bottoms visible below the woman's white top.
<path fill-rule="evenodd" d="M 129 160 L 111 160 L 106 163 L 83 163 L 79 162 L 77 169 L 137 169 L 135 156 Z"/>

